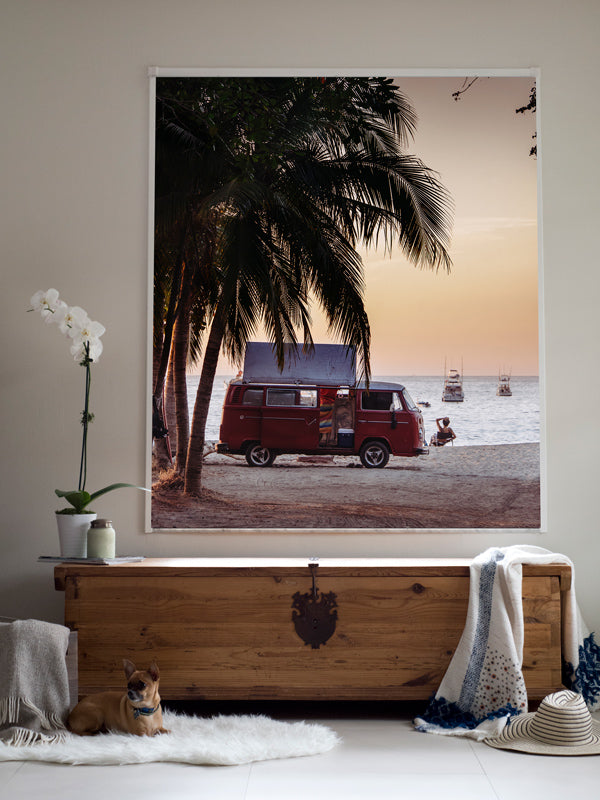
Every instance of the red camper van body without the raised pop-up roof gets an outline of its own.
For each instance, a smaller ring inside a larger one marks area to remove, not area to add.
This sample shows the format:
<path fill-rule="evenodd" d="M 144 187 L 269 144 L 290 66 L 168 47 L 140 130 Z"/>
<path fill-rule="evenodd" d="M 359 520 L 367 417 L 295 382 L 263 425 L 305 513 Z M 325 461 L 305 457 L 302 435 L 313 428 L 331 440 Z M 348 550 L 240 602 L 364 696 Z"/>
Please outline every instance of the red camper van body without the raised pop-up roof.
<path fill-rule="evenodd" d="M 423 417 L 404 386 L 231 383 L 220 453 L 243 453 L 269 467 L 279 453 L 358 455 L 382 468 L 390 455 L 427 453 Z"/>

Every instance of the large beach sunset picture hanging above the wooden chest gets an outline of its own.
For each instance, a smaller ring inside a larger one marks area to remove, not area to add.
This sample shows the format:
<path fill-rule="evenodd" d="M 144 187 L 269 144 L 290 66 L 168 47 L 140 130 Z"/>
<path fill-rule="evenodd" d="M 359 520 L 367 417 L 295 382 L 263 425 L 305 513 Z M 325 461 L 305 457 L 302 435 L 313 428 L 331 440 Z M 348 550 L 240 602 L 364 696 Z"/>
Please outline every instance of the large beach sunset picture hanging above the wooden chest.
<path fill-rule="evenodd" d="M 539 529 L 534 76 L 155 88 L 149 528 Z"/>

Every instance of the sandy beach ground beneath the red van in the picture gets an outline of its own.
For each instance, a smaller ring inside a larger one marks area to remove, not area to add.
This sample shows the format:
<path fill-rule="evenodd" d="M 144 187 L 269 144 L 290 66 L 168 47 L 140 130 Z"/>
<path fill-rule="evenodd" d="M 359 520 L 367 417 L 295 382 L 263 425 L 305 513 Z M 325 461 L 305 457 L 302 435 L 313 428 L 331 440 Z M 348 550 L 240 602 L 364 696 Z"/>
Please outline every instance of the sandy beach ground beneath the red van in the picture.
<path fill-rule="evenodd" d="M 431 448 L 365 469 L 358 457 L 279 456 L 252 468 L 209 454 L 201 498 L 155 487 L 152 527 L 539 528 L 538 444 Z"/>

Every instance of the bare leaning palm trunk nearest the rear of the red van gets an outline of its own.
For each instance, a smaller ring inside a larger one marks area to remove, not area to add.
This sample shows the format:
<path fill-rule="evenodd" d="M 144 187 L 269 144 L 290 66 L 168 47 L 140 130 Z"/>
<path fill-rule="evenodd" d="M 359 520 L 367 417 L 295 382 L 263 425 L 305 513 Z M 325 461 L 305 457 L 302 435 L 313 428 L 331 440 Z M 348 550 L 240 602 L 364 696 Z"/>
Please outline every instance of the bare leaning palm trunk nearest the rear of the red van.
<path fill-rule="evenodd" d="M 221 310 L 221 303 L 218 303 L 204 351 L 200 383 L 198 384 L 198 392 L 194 404 L 192 431 L 185 465 L 185 494 L 198 496 L 202 491 L 202 461 L 204 457 L 206 420 L 224 334 L 225 319 Z"/>

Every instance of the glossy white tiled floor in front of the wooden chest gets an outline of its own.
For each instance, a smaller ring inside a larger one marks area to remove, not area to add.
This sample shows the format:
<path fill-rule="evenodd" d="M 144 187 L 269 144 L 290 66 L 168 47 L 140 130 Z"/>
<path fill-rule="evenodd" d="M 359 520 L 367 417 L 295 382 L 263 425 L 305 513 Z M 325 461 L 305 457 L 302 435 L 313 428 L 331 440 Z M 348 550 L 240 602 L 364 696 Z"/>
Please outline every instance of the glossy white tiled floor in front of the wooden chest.
<path fill-rule="evenodd" d="M 549 757 L 417 733 L 412 712 L 310 719 L 343 743 L 240 767 L 0 764 L 0 800 L 565 800 L 600 796 L 600 756 Z M 285 718 L 284 714 L 279 715 Z M 297 719 L 298 715 L 290 717 Z M 307 717 L 308 718 L 308 717 Z M 598 718 L 598 715 L 596 715 Z"/>

